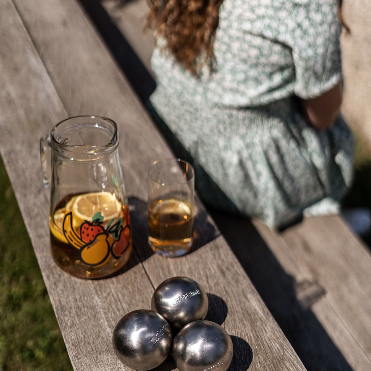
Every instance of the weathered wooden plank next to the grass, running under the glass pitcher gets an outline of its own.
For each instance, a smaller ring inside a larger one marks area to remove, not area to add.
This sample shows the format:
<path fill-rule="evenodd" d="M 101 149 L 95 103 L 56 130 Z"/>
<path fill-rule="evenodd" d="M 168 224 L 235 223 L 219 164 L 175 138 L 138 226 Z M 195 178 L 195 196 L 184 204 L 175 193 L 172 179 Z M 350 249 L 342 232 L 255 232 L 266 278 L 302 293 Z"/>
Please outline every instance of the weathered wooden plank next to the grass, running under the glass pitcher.
<path fill-rule="evenodd" d="M 53 263 L 38 141 L 67 114 L 10 0 L 0 2 L 0 40 L 1 156 L 73 367 L 122 369 L 112 350 L 113 328 L 124 313 L 149 307 L 152 286 L 135 254 L 127 272 L 97 281 L 69 276 Z"/>

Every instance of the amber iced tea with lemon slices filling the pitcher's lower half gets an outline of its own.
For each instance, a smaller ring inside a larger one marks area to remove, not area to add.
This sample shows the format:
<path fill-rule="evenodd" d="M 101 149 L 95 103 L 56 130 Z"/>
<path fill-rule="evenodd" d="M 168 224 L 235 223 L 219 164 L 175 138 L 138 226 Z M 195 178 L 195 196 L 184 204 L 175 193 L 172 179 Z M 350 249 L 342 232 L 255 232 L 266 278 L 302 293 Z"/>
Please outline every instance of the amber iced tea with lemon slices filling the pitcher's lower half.
<path fill-rule="evenodd" d="M 76 276 L 105 276 L 129 259 L 128 206 L 121 205 L 115 194 L 66 196 L 56 205 L 49 226 L 55 262 Z"/>

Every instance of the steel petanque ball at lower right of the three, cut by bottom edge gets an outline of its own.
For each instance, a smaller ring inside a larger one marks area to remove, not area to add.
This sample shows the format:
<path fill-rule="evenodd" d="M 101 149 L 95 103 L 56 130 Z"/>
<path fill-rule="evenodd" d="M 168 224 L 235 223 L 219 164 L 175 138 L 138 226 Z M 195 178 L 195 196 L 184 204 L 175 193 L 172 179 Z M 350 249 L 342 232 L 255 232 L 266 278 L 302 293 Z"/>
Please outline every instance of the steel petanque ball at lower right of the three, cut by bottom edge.
<path fill-rule="evenodd" d="M 214 322 L 191 322 L 175 336 L 173 358 L 179 371 L 226 371 L 232 357 L 230 336 Z"/>

